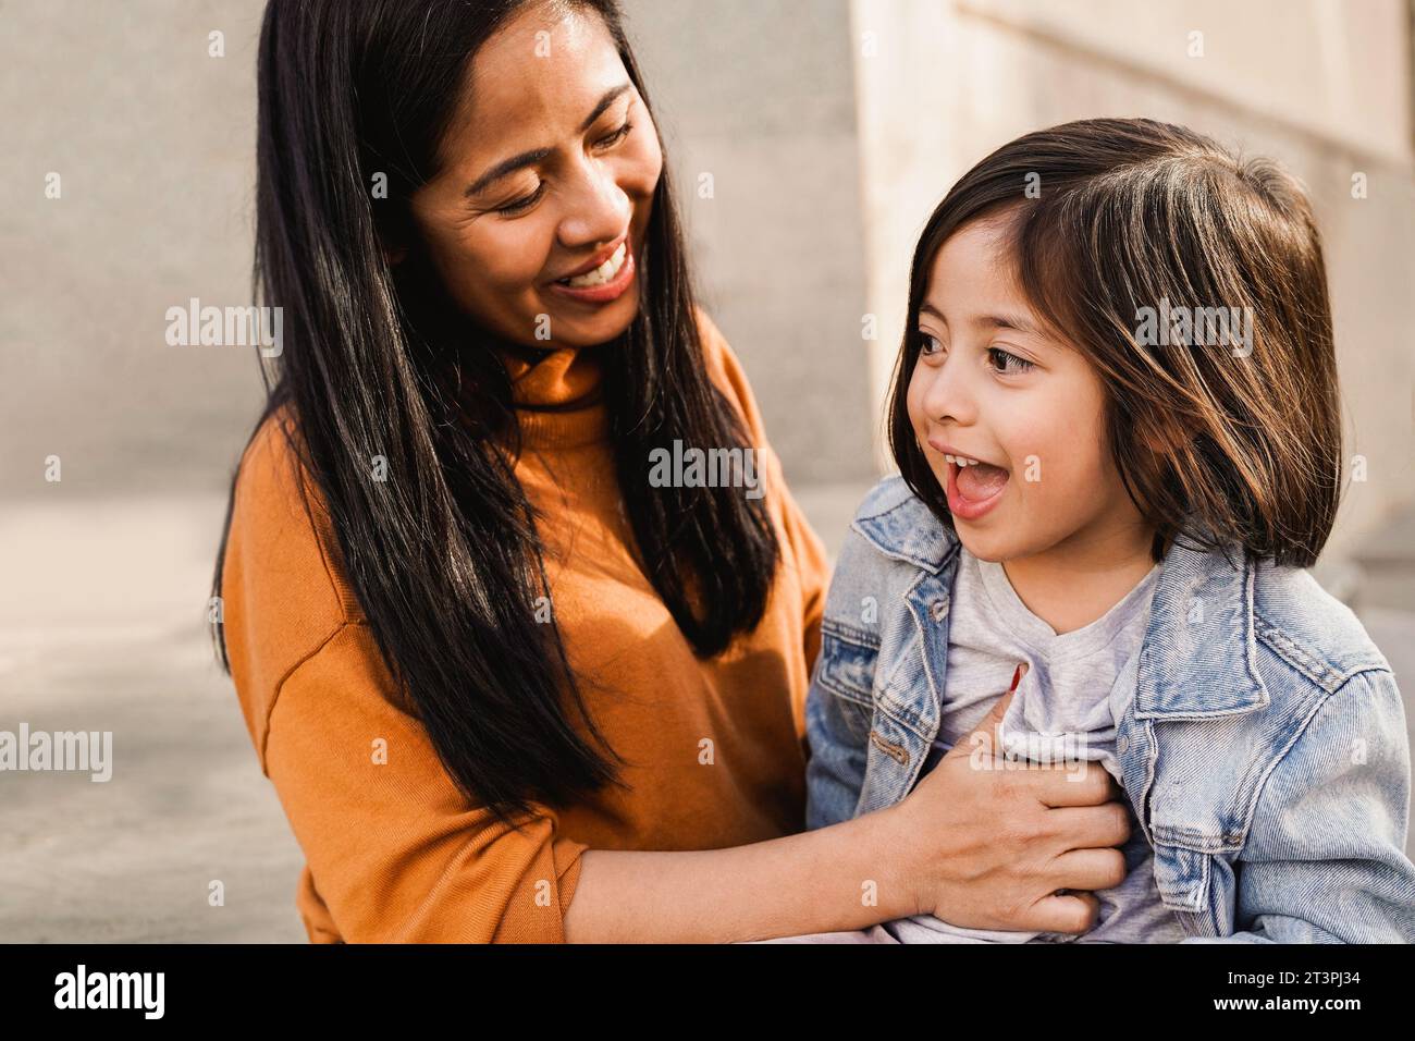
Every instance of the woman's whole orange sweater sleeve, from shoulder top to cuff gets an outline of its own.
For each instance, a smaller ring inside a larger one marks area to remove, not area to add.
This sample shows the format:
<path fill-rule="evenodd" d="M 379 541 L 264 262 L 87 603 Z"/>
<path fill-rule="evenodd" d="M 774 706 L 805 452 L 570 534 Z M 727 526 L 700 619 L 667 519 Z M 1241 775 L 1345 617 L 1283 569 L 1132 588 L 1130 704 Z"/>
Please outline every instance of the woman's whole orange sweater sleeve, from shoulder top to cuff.
<path fill-rule="evenodd" d="M 301 884 L 348 942 L 563 940 L 587 847 L 549 809 L 518 830 L 457 787 L 395 697 L 296 470 L 267 425 L 242 459 L 222 610 L 246 728 L 307 860 Z"/>

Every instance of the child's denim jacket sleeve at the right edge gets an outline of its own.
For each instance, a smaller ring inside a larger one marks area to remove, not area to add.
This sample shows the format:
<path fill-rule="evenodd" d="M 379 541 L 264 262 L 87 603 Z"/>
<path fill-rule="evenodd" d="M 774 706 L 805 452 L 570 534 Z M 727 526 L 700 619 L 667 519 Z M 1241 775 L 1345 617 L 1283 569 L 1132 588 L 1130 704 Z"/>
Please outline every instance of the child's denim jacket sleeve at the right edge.
<path fill-rule="evenodd" d="M 1242 851 L 1213 858 L 1240 932 L 1184 942 L 1415 942 L 1409 772 L 1395 677 L 1357 673 L 1274 766 Z"/>

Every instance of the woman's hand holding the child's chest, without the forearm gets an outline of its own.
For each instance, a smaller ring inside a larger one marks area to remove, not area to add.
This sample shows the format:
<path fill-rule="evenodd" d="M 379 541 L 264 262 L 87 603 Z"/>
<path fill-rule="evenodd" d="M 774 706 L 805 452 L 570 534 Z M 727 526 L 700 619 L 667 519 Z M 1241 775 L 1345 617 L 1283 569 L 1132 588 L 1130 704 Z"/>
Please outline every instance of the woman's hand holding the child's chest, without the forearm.
<path fill-rule="evenodd" d="M 1085 932 L 1091 892 L 1125 878 L 1124 790 L 1097 762 L 1022 769 L 1002 759 L 1009 691 L 925 775 L 896 814 L 918 914 L 974 929 Z"/>

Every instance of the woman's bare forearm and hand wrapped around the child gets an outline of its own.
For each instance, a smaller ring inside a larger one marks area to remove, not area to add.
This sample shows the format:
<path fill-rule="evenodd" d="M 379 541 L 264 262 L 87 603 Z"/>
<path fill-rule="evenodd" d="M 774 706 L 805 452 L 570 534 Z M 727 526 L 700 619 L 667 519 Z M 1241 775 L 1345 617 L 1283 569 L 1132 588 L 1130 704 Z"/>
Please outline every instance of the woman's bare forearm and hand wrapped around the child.
<path fill-rule="evenodd" d="M 1010 697 L 979 724 L 995 732 Z M 971 739 L 896 806 L 729 850 L 589 850 L 565 916 L 577 943 L 736 942 L 860 929 L 916 914 L 958 925 L 1084 932 L 1090 892 L 1125 872 L 1124 809 L 1095 763 L 978 770 Z M 1074 775 L 1074 770 L 1070 773 Z"/>

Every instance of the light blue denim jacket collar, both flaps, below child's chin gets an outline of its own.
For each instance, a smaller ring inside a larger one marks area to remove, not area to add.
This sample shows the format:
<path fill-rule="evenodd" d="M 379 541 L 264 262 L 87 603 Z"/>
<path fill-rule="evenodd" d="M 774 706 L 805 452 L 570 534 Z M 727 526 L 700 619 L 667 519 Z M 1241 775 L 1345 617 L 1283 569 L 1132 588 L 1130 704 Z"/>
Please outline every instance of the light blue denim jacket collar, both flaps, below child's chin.
<path fill-rule="evenodd" d="M 900 491 L 907 489 L 900 482 Z M 913 494 L 886 500 L 852 527 L 882 554 L 951 584 L 961 542 Z M 1242 547 L 1204 552 L 1170 545 L 1150 606 L 1135 693 L 1139 719 L 1214 718 L 1264 708 L 1271 695 L 1258 676 L 1254 568 Z M 942 572 L 947 569 L 947 575 Z M 1221 683 L 1215 683 L 1221 677 Z"/>

